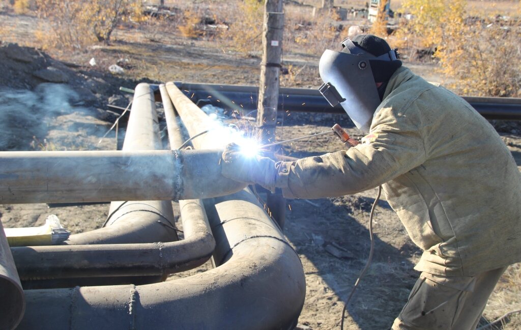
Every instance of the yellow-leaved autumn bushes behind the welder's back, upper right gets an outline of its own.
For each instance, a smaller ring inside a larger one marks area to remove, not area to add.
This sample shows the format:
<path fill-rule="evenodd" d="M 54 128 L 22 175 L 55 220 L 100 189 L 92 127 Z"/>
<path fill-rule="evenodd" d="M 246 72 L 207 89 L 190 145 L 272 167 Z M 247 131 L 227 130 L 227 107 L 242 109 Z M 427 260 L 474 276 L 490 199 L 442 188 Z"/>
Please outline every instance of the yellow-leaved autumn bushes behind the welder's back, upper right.
<path fill-rule="evenodd" d="M 517 19 L 470 16 L 466 6 L 465 0 L 405 0 L 400 11 L 411 18 L 402 19 L 394 44 L 432 52 L 458 93 L 520 97 L 519 4 L 512 11 Z"/>

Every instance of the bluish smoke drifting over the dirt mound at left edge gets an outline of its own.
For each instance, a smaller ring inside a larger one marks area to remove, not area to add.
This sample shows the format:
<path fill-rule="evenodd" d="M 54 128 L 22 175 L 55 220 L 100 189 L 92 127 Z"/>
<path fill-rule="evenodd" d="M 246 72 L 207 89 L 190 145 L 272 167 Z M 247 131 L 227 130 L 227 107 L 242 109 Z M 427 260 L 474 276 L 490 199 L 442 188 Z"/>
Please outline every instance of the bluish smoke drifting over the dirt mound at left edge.
<path fill-rule="evenodd" d="M 62 84 L 42 83 L 34 89 L 0 89 L 0 150 L 32 150 L 44 140 L 59 115 L 84 111 L 79 95 Z M 34 137 L 34 138 L 33 138 Z"/>

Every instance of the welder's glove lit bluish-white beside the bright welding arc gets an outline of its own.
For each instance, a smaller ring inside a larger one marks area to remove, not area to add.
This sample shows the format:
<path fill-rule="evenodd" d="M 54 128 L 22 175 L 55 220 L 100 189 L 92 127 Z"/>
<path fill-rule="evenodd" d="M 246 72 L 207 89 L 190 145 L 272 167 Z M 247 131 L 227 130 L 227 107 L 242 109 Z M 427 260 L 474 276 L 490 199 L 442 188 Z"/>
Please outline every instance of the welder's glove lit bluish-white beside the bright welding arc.
<path fill-rule="evenodd" d="M 221 174 L 235 181 L 258 184 L 266 189 L 275 190 L 275 162 L 259 155 L 247 156 L 235 143 L 228 144 L 222 152 Z"/>

